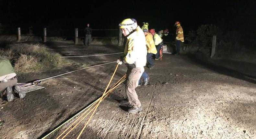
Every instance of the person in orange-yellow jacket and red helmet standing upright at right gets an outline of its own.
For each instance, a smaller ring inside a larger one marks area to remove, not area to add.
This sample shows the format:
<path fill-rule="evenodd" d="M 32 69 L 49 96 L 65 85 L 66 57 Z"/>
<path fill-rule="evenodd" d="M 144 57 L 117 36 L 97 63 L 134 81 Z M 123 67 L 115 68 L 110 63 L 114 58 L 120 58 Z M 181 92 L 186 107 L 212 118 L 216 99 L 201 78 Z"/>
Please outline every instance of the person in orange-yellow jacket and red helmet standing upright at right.
<path fill-rule="evenodd" d="M 176 21 L 175 26 L 177 27 L 176 29 L 176 40 L 175 40 L 175 45 L 176 45 L 176 54 L 175 56 L 180 54 L 180 44 L 184 42 L 184 35 L 183 35 L 183 29 L 180 26 L 180 22 Z"/>

